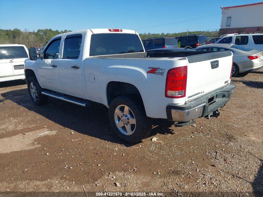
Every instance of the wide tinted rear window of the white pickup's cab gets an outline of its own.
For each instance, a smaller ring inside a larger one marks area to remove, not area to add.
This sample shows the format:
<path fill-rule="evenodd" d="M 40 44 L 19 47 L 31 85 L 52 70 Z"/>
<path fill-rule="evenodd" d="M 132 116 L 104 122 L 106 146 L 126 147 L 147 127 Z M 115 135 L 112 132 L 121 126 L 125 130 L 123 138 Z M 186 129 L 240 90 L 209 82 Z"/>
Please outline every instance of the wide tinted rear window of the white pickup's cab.
<path fill-rule="evenodd" d="M 144 52 L 136 34 L 105 33 L 92 34 L 90 56 Z"/>

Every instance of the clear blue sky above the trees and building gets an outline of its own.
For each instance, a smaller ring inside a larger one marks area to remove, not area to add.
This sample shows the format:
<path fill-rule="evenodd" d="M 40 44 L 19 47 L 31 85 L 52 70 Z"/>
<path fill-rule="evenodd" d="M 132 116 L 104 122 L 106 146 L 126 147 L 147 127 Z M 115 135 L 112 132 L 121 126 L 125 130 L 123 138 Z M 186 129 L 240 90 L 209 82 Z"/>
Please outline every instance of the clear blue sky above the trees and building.
<path fill-rule="evenodd" d="M 7 0 L 0 3 L 0 29 L 120 28 L 138 33 L 214 30 L 220 28 L 220 6 L 257 2 L 260 1 Z"/>

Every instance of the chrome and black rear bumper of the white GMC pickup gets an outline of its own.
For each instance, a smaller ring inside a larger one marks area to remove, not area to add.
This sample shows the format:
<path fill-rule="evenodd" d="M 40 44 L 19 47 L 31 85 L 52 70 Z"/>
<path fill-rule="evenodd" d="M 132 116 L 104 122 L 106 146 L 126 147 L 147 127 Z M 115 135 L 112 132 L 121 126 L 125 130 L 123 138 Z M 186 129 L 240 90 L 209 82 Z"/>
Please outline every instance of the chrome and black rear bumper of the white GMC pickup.
<path fill-rule="evenodd" d="M 166 107 L 167 119 L 186 122 L 209 115 L 228 102 L 235 87 L 234 84 L 225 85 L 195 99 L 186 101 L 184 105 L 169 105 Z"/>

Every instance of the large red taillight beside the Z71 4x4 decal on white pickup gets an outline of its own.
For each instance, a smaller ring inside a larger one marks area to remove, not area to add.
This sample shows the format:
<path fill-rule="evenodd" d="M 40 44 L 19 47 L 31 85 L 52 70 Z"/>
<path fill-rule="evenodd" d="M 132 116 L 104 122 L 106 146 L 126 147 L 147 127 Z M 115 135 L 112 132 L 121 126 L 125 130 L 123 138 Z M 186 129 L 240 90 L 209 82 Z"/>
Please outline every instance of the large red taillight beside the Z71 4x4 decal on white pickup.
<path fill-rule="evenodd" d="M 165 97 L 182 98 L 186 96 L 187 66 L 168 70 L 165 84 Z"/>

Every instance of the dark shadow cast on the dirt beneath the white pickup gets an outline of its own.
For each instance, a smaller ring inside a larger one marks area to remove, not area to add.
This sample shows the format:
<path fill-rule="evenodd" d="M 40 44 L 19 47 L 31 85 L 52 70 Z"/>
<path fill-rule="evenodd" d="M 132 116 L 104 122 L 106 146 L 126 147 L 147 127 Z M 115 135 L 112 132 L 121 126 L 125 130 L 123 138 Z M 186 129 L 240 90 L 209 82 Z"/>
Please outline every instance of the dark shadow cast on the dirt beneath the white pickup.
<path fill-rule="evenodd" d="M 25 107 L 38 115 L 44 116 L 55 124 L 72 129 L 78 133 L 100 138 L 113 143 L 124 144 L 126 147 L 132 146 L 131 144 L 124 143 L 112 131 L 108 118 L 108 108 L 99 103 L 92 103 L 91 107 L 84 108 L 66 101 L 50 98 L 47 104 L 36 106 L 31 101 L 27 88 L 8 91 L 2 93 L 1 96 L 4 99 L 0 100 L 0 103 L 6 100 L 13 101 L 17 105 Z M 2 103 L 1 105 L 5 104 Z M 33 119 L 34 118 L 36 117 L 33 117 Z M 155 125 L 150 136 L 157 133 L 173 134 L 171 132 L 172 130 L 169 129 L 169 127 L 174 124 L 173 122 L 157 119 L 154 120 L 154 124 Z M 52 127 L 53 126 L 54 125 L 52 125 Z"/>

